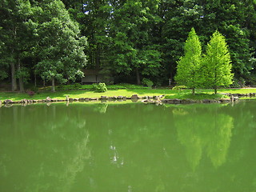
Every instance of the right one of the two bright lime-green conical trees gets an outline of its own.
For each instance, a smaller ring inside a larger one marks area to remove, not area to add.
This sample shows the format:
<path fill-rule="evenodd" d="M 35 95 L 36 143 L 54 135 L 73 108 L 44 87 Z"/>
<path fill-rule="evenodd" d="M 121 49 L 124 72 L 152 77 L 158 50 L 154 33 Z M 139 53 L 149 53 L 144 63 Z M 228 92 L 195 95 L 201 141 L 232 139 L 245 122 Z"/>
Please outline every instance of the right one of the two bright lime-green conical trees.
<path fill-rule="evenodd" d="M 231 73 L 230 53 L 225 38 L 216 30 L 206 47 L 202 70 L 204 71 L 204 85 L 214 88 L 217 94 L 219 86 L 232 84 L 234 74 Z"/>

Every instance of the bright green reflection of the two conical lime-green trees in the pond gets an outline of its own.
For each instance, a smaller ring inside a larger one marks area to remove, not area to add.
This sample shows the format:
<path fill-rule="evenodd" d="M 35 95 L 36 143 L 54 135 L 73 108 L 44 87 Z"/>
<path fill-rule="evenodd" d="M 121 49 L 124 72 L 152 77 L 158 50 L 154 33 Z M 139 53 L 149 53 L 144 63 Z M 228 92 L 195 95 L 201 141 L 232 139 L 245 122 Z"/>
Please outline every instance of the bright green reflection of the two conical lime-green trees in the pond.
<path fill-rule="evenodd" d="M 234 120 L 218 109 L 219 106 L 215 105 L 173 110 L 178 140 L 186 146 L 186 158 L 193 170 L 198 166 L 203 150 L 215 167 L 226 161 Z"/>

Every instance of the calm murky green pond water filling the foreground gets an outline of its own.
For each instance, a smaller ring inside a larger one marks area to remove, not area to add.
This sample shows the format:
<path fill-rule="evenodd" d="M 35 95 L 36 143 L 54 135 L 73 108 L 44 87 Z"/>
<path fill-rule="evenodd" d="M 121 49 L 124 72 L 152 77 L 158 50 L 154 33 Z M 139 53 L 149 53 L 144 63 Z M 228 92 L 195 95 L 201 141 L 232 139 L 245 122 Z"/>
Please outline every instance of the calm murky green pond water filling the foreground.
<path fill-rule="evenodd" d="M 1 192 L 255 192 L 256 102 L 0 108 Z"/>

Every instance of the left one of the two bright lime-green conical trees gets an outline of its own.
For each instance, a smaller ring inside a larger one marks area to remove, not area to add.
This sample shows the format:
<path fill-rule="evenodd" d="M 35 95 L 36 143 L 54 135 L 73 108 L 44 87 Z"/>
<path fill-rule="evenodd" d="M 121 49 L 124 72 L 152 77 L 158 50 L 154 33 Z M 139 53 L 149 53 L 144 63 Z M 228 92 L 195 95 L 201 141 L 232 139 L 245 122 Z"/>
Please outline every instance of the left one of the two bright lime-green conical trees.
<path fill-rule="evenodd" d="M 175 81 L 179 85 L 192 88 L 192 94 L 194 94 L 194 89 L 199 85 L 201 61 L 201 43 L 194 28 L 192 28 L 184 46 L 184 56 L 178 61 L 177 74 L 175 76 Z"/>

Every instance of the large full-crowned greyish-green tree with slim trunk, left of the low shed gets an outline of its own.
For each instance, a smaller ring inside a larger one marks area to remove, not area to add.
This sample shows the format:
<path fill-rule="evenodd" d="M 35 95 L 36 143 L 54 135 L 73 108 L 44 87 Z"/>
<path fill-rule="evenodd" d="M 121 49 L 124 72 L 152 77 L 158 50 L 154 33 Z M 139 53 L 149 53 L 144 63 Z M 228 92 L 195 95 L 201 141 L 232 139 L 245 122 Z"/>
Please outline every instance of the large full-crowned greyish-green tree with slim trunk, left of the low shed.
<path fill-rule="evenodd" d="M 60 0 L 42 3 L 38 10 L 38 74 L 52 82 L 64 83 L 82 77 L 82 67 L 86 65 L 84 46 L 86 38 L 80 37 L 78 23 L 71 20 Z"/>

